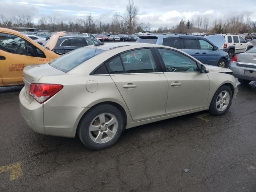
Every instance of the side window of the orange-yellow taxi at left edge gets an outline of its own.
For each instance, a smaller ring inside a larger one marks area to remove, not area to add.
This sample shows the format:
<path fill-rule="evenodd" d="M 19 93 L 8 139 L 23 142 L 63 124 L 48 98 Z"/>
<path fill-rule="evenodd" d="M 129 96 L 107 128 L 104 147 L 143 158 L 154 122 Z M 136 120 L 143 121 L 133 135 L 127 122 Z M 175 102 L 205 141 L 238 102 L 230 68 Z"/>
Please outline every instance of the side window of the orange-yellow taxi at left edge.
<path fill-rule="evenodd" d="M 6 33 L 0 33 L 0 50 L 13 54 L 46 57 L 41 50 L 27 40 Z"/>

